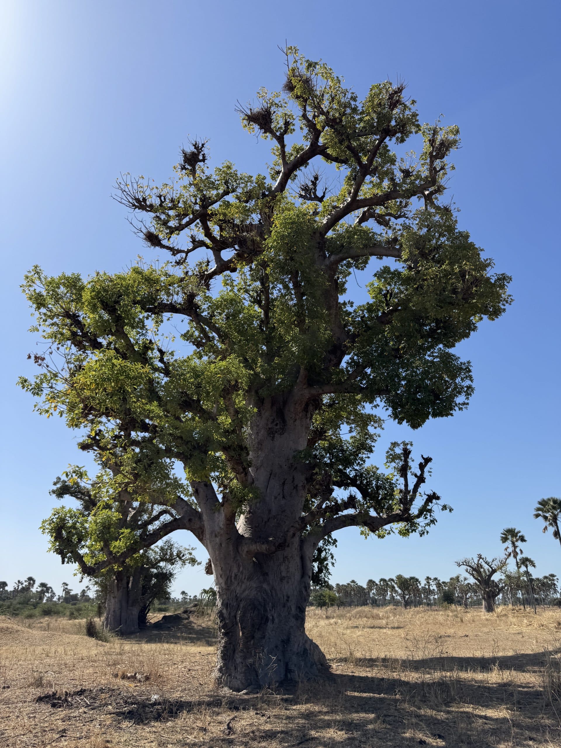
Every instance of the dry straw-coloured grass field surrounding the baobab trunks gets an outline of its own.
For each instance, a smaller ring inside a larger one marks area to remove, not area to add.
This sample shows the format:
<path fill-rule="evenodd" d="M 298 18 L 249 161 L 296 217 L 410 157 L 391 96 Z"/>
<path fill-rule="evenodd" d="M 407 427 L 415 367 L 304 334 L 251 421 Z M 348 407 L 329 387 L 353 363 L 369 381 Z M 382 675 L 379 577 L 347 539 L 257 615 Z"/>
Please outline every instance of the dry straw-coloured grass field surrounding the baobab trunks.
<path fill-rule="evenodd" d="M 559 611 L 312 609 L 308 629 L 331 675 L 252 696 L 215 689 L 209 622 L 102 643 L 0 618 L 0 748 L 561 746 Z"/>

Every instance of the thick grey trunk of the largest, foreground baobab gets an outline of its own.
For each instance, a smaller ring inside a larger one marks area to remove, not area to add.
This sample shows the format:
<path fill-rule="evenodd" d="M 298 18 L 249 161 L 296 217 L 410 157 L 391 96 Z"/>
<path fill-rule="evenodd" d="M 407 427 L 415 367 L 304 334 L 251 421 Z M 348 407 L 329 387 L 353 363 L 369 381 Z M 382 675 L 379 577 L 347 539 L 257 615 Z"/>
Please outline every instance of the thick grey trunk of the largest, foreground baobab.
<path fill-rule="evenodd" d="M 236 691 L 327 669 L 324 654 L 304 631 L 313 548 L 303 551 L 298 533 L 290 533 L 307 493 L 307 468 L 297 453 L 306 447 L 312 416 L 298 399 L 272 397 L 260 404 L 248 439 L 251 485 L 258 495 L 239 518 L 237 532 L 215 524 L 216 512 L 205 518 L 217 592 L 215 676 Z M 271 554 L 244 550 L 244 544 L 271 539 L 286 545 Z"/>

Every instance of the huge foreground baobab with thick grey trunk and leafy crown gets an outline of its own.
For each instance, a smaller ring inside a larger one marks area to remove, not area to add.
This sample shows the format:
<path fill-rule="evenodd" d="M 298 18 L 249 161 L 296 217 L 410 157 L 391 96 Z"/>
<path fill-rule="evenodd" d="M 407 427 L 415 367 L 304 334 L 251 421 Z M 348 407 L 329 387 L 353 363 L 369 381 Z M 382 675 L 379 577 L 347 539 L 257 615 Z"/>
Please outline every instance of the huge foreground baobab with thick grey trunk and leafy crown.
<path fill-rule="evenodd" d="M 27 275 L 34 329 L 61 361 L 41 352 L 40 374 L 22 385 L 44 413 L 84 429 L 83 448 L 123 419 L 137 474 L 183 467 L 183 526 L 215 577 L 215 675 L 244 690 L 325 669 L 304 630 L 323 539 L 435 522 L 429 457 L 414 468 L 411 445 L 393 444 L 389 473 L 370 465 L 375 408 L 413 428 L 465 408 L 470 364 L 453 349 L 510 298 L 509 278 L 444 198 L 459 129 L 420 125 L 404 84 L 373 85 L 361 101 L 289 48 L 283 93 L 262 90 L 239 113 L 272 144 L 268 175 L 211 170 L 194 140 L 174 180 L 117 181 L 138 233 L 169 263 Z M 410 138 L 418 157 L 405 155 Z M 336 170 L 335 191 L 318 161 Z M 349 283 L 369 263 L 368 298 L 355 303 Z"/>

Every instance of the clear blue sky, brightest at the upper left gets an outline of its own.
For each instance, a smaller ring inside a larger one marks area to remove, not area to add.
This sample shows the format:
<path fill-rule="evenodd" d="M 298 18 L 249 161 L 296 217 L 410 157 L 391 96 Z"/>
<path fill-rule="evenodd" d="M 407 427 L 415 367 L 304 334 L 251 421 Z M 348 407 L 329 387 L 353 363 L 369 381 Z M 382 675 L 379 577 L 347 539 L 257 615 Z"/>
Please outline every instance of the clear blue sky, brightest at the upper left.
<path fill-rule="evenodd" d="M 538 574 L 561 576 L 561 548 L 532 518 L 537 499 L 561 494 L 560 16 L 560 3 L 544 0 L 1 3 L 0 579 L 79 584 L 37 529 L 55 503 L 52 480 L 84 457 L 76 435 L 34 414 L 16 388 L 34 347 L 23 273 L 34 263 L 52 274 L 117 271 L 138 253 L 154 257 L 111 186 L 120 171 L 167 177 L 189 135 L 209 138 L 215 162 L 263 171 L 263 145 L 234 107 L 279 87 L 285 40 L 358 93 L 401 76 L 422 120 L 443 113 L 459 124 L 460 223 L 514 278 L 515 304 L 462 346 L 475 374 L 469 410 L 413 435 L 455 511 L 424 539 L 343 531 L 334 581 L 449 577 L 459 557 L 497 554 L 508 525 L 526 534 Z M 375 462 L 390 438 L 409 436 L 388 424 Z M 208 582 L 188 570 L 176 589 Z"/>

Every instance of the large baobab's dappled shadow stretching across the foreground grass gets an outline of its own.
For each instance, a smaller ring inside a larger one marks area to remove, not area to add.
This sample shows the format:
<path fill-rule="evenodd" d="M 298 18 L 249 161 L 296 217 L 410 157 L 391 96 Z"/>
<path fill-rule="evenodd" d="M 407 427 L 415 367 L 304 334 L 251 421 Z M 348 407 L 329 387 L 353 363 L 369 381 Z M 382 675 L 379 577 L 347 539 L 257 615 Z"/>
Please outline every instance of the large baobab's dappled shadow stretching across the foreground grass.
<path fill-rule="evenodd" d="M 255 695 L 216 691 L 195 702 L 165 703 L 127 695 L 111 714 L 118 721 L 147 723 L 204 709 L 220 727 L 194 741 L 201 748 L 269 742 L 281 748 L 560 745 L 559 696 L 548 702 L 533 672 L 547 657 L 548 652 L 503 657 L 509 670 L 500 671 L 494 657 L 459 657 L 455 663 L 443 658 L 438 667 L 433 663 L 439 658 L 407 663 L 410 668 L 396 662 L 393 672 L 387 664 L 361 663 L 353 672 Z M 517 680 L 518 672 L 531 679 Z M 256 718 L 251 723 L 236 714 Z"/>

